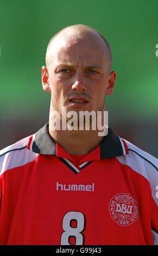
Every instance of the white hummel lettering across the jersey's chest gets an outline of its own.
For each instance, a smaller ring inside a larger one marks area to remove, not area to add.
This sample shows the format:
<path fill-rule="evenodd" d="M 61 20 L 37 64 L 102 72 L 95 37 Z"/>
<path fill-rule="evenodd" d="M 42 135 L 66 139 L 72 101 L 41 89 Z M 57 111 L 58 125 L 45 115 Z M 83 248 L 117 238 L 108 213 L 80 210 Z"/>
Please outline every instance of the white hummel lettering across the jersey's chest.
<path fill-rule="evenodd" d="M 56 182 L 56 191 L 87 191 L 94 192 L 94 183 L 92 185 L 82 185 L 82 184 L 59 184 Z"/>

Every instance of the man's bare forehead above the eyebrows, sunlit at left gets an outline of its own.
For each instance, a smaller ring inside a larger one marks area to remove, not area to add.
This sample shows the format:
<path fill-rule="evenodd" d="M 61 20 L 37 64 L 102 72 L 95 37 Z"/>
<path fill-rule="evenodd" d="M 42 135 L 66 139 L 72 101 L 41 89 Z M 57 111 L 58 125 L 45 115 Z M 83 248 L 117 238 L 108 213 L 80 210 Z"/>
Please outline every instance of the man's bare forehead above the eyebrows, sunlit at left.
<path fill-rule="evenodd" d="M 104 65 L 106 51 L 104 41 L 99 36 L 61 36 L 52 42 L 49 48 L 49 62 L 84 62 L 85 64 Z"/>

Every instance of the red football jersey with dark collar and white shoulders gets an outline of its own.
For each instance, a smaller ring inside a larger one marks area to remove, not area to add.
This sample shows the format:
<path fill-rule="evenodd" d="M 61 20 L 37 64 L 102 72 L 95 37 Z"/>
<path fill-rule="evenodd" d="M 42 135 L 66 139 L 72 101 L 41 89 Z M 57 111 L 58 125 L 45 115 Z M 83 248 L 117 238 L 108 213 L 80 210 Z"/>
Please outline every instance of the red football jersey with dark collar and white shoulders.
<path fill-rule="evenodd" d="M 77 163 L 47 124 L 0 151 L 0 244 L 156 244 L 157 166 L 111 129 Z"/>

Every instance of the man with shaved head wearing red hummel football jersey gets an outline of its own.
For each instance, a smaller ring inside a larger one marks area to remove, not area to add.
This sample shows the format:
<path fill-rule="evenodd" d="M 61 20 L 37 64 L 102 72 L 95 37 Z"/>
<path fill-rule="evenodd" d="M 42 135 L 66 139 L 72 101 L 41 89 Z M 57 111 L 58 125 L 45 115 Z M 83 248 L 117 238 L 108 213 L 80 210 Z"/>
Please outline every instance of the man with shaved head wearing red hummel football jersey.
<path fill-rule="evenodd" d="M 71 121 L 63 108 L 77 113 L 74 123 L 83 111 L 104 117 L 116 81 L 111 64 L 108 41 L 90 27 L 67 27 L 50 40 L 42 67 L 49 123 L 0 152 L 1 245 L 158 242 L 157 159 L 110 128 L 98 136 L 94 115 L 89 130 L 85 119 L 84 129 L 79 119 L 60 129 Z"/>

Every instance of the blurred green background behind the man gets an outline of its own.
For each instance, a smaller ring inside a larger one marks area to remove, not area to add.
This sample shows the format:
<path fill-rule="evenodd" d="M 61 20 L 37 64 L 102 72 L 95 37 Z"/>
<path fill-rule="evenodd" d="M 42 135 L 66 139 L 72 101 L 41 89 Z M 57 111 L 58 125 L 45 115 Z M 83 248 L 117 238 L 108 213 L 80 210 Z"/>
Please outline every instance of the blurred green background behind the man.
<path fill-rule="evenodd" d="M 109 126 L 158 157 L 157 0 L 0 0 L 0 149 L 48 121 L 41 86 L 49 39 L 84 24 L 110 42 L 116 89 L 106 98 Z"/>

